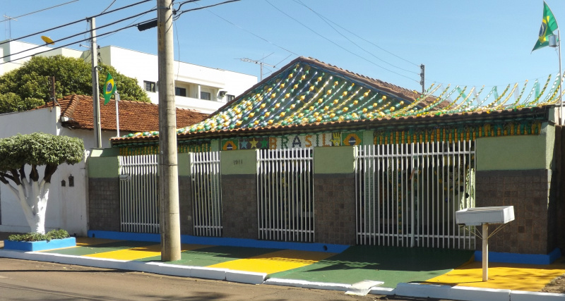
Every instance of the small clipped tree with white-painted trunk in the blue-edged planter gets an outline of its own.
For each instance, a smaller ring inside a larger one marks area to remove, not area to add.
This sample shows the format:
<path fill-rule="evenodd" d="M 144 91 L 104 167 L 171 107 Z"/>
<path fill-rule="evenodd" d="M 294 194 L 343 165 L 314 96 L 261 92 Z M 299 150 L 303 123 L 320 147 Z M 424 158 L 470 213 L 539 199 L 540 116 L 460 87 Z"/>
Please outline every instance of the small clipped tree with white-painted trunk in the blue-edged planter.
<path fill-rule="evenodd" d="M 84 142 L 74 137 L 33 133 L 0 139 L 0 182 L 19 199 L 32 232 L 45 233 L 53 173 L 61 164 L 80 162 L 83 155 Z"/>

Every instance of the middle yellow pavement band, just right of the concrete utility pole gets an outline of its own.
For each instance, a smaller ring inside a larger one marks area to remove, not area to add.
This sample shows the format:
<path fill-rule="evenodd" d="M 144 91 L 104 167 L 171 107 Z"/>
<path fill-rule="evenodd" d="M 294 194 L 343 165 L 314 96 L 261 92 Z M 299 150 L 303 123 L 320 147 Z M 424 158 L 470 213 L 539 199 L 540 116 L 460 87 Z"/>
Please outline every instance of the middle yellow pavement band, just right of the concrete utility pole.
<path fill-rule="evenodd" d="M 213 264 L 208 267 L 272 274 L 314 264 L 333 255 L 335 253 L 280 250 L 245 259 Z"/>

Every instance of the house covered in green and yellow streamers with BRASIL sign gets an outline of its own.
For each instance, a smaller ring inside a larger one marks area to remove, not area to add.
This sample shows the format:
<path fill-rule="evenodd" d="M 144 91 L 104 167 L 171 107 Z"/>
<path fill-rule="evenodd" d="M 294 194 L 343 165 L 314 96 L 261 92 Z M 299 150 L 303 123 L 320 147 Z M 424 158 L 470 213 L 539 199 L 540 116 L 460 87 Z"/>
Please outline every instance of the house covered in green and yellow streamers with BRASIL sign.
<path fill-rule="evenodd" d="M 554 256 L 564 247 L 558 78 L 495 88 L 420 95 L 297 58 L 179 128 L 182 235 L 475 250 L 475 229 L 455 212 L 513 205 L 516 220 L 491 250 Z M 155 201 L 118 193 L 143 183 L 124 158 L 156 154 L 157 143 L 117 137 L 89 158 L 105 166 L 89 171 L 91 231 L 158 233 Z M 133 214 L 124 207 L 140 203 Z M 131 221 L 141 212 L 152 217 Z"/>

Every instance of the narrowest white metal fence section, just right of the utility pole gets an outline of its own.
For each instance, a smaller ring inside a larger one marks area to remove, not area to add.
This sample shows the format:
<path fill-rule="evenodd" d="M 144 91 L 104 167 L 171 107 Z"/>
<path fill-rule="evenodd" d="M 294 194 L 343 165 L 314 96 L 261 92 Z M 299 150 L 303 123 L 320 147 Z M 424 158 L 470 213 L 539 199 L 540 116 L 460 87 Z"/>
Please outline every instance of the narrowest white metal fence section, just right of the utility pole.
<path fill-rule="evenodd" d="M 190 154 L 194 235 L 222 236 L 220 152 Z"/>

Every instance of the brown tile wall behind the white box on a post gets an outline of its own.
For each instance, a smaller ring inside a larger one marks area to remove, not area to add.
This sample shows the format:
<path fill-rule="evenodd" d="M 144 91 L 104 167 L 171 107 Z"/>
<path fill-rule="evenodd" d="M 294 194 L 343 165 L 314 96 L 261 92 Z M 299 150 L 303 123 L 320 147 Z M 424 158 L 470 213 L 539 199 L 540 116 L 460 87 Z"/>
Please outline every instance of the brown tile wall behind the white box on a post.
<path fill-rule="evenodd" d="M 515 220 L 489 238 L 489 251 L 548 254 L 557 247 L 551 170 L 477 171 L 476 176 L 476 207 L 514 207 Z M 481 247 L 477 242 L 477 250 Z"/>

